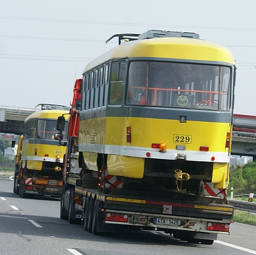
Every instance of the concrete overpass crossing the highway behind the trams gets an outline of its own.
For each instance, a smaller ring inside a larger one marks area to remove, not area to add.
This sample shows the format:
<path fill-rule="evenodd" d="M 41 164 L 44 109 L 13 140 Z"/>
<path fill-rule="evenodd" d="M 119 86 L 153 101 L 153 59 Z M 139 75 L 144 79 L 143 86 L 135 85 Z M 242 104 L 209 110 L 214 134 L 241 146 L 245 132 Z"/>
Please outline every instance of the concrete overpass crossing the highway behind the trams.
<path fill-rule="evenodd" d="M 36 109 L 0 106 L 0 132 L 22 134 L 24 121 Z M 232 155 L 252 156 L 256 161 L 256 116 L 234 114 Z"/>

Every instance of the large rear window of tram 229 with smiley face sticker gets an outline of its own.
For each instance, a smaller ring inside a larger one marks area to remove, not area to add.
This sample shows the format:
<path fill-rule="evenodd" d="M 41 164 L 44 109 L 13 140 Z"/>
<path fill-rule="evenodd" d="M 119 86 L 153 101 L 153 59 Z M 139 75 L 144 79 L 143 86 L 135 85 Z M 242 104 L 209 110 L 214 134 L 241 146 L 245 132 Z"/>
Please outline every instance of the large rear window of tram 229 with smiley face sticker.
<path fill-rule="evenodd" d="M 230 73 L 227 66 L 133 61 L 126 104 L 229 111 Z"/>

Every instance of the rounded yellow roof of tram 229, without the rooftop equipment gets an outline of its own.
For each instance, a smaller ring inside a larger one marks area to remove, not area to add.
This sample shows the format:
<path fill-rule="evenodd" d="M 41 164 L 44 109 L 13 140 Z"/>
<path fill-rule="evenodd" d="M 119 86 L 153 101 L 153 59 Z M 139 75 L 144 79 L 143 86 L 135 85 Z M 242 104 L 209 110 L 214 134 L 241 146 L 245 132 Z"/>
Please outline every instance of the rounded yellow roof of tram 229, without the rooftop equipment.
<path fill-rule="evenodd" d="M 120 44 L 88 63 L 83 73 L 107 60 L 127 57 L 216 61 L 235 65 L 233 55 L 227 47 L 199 39 L 162 37 Z"/>

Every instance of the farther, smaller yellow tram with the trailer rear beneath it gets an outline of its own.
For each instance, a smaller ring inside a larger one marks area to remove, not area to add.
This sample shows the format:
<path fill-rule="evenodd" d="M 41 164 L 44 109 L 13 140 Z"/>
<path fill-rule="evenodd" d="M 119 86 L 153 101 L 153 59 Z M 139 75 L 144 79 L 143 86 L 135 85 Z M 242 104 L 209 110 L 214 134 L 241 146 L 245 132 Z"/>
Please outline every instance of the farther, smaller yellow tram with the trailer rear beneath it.
<path fill-rule="evenodd" d="M 32 113 L 24 122 L 21 164 L 16 182 L 19 188 L 16 188 L 15 193 L 19 191 L 21 197 L 60 197 L 65 147 L 59 146 L 54 134 L 57 132 L 57 118 L 64 114 L 68 119 L 69 107 L 40 105 L 41 110 Z M 63 139 L 66 140 L 66 130 L 63 131 Z"/>

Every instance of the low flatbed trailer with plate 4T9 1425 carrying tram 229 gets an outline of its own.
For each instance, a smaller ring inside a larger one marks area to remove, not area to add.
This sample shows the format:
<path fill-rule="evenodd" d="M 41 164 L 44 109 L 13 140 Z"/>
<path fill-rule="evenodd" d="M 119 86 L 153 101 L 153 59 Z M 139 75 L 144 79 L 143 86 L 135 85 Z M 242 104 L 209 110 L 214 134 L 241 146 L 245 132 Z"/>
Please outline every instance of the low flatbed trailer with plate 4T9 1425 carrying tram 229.
<path fill-rule="evenodd" d="M 93 234 L 157 230 L 188 242 L 212 244 L 218 234 L 229 234 L 233 217 L 233 206 L 221 197 L 124 189 L 105 189 L 102 194 L 70 177 L 66 188 L 61 217 L 70 223 L 83 218 L 85 230 Z"/>

